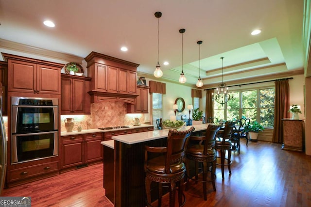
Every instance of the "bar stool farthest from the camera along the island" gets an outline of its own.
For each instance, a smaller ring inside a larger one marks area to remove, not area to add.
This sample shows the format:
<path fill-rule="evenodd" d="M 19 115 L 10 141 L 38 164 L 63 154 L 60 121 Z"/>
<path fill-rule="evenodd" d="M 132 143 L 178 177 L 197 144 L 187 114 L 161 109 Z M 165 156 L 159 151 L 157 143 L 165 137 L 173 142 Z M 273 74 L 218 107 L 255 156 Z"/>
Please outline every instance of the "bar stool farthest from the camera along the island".
<path fill-rule="evenodd" d="M 226 121 L 225 122 L 225 128 L 224 130 L 220 130 L 218 132 L 218 139 L 220 141 L 216 140 L 215 146 L 216 150 L 219 150 L 221 153 L 220 158 L 221 159 L 221 164 L 216 163 L 217 165 L 222 166 L 222 177 L 225 179 L 225 166 L 228 166 L 229 174 L 231 175 L 231 151 L 232 151 L 232 145 L 231 145 L 231 135 L 233 131 L 233 127 L 235 126 L 236 122 L 235 121 Z M 228 151 L 228 158 L 225 158 L 225 151 Z M 227 163 L 225 163 L 225 160 L 227 160 Z"/>

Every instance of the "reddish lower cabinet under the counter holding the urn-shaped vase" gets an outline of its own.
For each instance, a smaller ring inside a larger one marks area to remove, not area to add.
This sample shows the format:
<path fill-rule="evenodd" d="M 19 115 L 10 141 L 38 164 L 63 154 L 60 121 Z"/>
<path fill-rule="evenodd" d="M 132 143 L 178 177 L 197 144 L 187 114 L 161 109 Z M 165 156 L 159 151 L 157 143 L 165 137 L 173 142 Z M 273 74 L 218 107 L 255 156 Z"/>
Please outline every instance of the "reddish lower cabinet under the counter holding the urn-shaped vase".
<path fill-rule="evenodd" d="M 103 159 L 103 133 L 88 133 L 61 137 L 61 169 L 72 169 L 79 165 Z"/>

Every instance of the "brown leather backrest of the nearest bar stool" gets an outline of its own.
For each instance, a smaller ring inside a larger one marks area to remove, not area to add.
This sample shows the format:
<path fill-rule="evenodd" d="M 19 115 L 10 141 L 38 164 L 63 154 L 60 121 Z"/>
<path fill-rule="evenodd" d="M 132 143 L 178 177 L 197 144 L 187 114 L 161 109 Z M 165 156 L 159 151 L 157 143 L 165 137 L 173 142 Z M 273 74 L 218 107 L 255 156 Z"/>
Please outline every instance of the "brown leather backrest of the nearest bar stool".
<path fill-rule="evenodd" d="M 165 171 L 170 174 L 170 165 L 178 164 L 186 156 L 186 149 L 189 143 L 189 137 L 194 127 L 185 131 L 170 130 L 167 137 L 167 152 Z"/>

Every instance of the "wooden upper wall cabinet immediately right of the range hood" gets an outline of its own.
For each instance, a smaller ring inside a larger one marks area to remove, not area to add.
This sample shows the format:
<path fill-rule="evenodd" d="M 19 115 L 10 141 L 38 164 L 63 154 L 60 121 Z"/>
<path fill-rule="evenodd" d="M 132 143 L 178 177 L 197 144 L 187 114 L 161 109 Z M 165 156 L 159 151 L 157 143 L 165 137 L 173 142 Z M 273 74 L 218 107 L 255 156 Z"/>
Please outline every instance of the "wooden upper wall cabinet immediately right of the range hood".
<path fill-rule="evenodd" d="M 128 113 L 148 113 L 148 89 L 146 86 L 137 86 L 138 96 L 135 99 L 135 104 L 127 105 Z"/>

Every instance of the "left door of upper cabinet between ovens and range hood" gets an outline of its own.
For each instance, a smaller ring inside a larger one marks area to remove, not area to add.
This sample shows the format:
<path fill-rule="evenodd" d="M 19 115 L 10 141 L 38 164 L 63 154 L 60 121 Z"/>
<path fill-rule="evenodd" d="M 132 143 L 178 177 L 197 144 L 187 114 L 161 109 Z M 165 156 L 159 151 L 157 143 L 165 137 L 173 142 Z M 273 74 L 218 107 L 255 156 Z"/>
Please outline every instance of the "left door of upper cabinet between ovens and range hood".
<path fill-rule="evenodd" d="M 61 113 L 71 113 L 72 79 L 62 78 L 62 103 Z"/>

